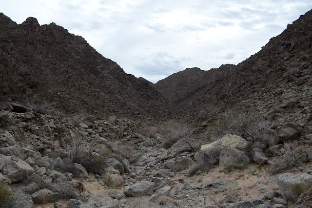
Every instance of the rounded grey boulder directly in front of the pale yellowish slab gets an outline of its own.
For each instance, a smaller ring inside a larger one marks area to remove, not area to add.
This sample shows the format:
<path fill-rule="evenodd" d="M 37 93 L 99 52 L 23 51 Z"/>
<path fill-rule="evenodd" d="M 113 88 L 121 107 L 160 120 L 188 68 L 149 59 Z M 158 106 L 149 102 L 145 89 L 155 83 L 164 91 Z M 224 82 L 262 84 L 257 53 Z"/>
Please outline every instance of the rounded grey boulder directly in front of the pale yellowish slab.
<path fill-rule="evenodd" d="M 220 166 L 231 166 L 247 163 L 250 163 L 250 159 L 247 154 L 236 148 L 229 147 L 225 150 L 222 150 L 219 156 Z"/>

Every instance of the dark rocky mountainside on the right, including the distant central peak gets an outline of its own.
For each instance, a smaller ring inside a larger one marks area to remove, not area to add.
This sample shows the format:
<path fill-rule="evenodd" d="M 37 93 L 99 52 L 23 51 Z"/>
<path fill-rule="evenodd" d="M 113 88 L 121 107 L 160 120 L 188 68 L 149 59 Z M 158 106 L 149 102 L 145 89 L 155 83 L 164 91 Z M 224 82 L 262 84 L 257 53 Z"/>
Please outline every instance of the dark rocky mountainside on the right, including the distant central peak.
<path fill-rule="evenodd" d="M 311 87 L 312 10 L 236 66 L 186 69 L 155 84 L 181 117 L 210 123 L 227 108 L 256 110 L 273 119 L 273 126 L 294 121 L 307 129 Z"/>

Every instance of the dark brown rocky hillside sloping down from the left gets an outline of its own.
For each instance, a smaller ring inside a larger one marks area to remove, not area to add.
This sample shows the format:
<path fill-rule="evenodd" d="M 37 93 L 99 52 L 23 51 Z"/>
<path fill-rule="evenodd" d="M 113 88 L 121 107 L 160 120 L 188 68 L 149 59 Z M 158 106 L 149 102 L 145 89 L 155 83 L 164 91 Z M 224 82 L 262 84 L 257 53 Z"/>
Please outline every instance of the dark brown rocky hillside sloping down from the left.
<path fill-rule="evenodd" d="M 35 18 L 16 24 L 0 14 L 3 102 L 54 105 L 122 117 L 159 117 L 172 110 L 149 83 L 126 74 L 82 37 Z"/>

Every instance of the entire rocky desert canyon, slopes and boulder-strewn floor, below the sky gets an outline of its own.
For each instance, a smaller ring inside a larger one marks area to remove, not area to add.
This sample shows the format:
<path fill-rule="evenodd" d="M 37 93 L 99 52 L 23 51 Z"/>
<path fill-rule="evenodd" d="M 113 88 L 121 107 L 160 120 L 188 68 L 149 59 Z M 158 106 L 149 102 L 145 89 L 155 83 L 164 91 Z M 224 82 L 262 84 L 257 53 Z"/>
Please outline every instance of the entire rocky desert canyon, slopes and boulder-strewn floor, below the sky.
<path fill-rule="evenodd" d="M 309 11 L 238 65 L 154 85 L 1 13 L 0 206 L 311 206 L 311 49 Z"/>

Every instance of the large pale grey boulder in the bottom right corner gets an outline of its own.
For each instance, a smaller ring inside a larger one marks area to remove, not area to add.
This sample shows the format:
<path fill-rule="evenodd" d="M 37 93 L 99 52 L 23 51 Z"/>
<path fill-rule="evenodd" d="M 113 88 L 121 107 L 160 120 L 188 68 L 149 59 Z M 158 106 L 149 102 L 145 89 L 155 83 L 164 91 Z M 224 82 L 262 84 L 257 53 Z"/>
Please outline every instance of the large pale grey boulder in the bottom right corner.
<path fill-rule="evenodd" d="M 287 199 L 288 203 L 294 203 L 301 193 L 312 186 L 312 175 L 284 173 L 278 176 L 277 185 L 280 194 Z"/>

